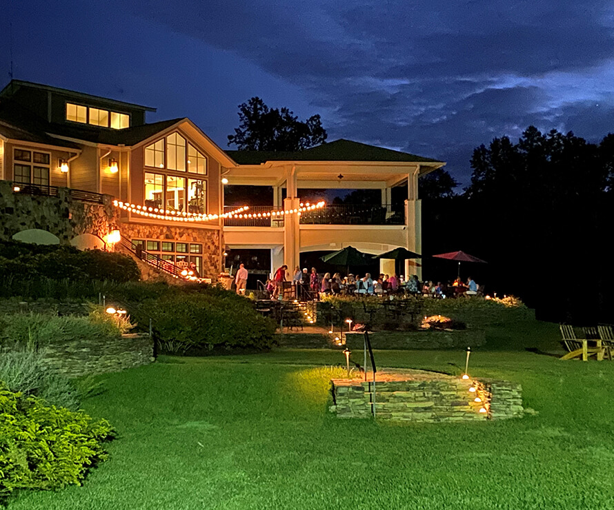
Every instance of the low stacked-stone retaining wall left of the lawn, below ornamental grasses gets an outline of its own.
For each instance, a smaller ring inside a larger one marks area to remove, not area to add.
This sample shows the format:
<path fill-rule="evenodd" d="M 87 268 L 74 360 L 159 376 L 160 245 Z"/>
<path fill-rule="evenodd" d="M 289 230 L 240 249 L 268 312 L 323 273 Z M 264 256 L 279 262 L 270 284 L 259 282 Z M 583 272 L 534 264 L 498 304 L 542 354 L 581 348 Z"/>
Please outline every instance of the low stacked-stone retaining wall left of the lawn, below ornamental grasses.
<path fill-rule="evenodd" d="M 1 350 L 7 352 L 10 347 Z M 44 365 L 68 377 L 107 374 L 147 365 L 154 360 L 153 340 L 148 334 L 50 343 L 41 346 L 40 352 Z"/>

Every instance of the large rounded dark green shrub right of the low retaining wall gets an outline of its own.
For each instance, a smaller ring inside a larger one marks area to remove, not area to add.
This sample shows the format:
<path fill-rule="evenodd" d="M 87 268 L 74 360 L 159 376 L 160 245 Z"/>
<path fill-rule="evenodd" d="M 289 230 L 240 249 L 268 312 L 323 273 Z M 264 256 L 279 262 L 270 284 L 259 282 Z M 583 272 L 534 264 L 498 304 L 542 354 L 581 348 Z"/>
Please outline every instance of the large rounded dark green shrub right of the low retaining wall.
<path fill-rule="evenodd" d="M 152 318 L 163 351 L 184 354 L 213 347 L 266 349 L 276 327 L 250 300 L 216 287 L 148 300 L 133 316 L 141 324 Z"/>

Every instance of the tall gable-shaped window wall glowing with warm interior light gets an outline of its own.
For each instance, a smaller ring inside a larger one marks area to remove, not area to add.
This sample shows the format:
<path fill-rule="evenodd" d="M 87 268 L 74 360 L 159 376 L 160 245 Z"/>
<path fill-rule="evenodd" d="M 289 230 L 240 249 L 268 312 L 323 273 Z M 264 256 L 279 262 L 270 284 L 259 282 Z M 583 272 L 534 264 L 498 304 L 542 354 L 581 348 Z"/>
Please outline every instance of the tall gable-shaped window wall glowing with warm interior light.
<path fill-rule="evenodd" d="M 146 206 L 207 212 L 207 158 L 184 136 L 171 133 L 145 147 L 145 167 Z"/>

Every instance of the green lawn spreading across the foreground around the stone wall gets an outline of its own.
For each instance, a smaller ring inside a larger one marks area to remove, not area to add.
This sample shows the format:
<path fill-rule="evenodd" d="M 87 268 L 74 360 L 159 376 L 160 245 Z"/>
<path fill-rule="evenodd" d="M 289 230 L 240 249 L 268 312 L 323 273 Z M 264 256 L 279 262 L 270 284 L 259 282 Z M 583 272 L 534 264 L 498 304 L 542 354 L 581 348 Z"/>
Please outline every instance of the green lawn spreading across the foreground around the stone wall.
<path fill-rule="evenodd" d="M 614 363 L 524 350 L 551 349 L 551 325 L 488 335 L 499 347 L 475 351 L 471 374 L 522 383 L 537 416 L 338 420 L 327 413 L 325 365 L 341 363 L 339 352 L 164 358 L 102 376 L 106 393 L 84 402 L 119 438 L 83 487 L 21 493 L 10 510 L 613 509 Z M 455 373 L 464 352 L 376 360 Z"/>

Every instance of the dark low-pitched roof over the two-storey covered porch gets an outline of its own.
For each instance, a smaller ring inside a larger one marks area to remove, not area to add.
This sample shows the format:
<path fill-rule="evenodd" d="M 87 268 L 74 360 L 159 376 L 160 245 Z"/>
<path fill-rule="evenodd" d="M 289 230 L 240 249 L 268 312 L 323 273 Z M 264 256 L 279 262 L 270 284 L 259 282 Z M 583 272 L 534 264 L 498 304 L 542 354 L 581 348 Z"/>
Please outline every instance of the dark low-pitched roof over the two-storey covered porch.
<path fill-rule="evenodd" d="M 227 150 L 226 153 L 240 165 L 259 165 L 266 161 L 390 161 L 406 163 L 442 163 L 436 159 L 424 158 L 384 149 L 375 145 L 339 139 L 322 143 L 317 147 L 296 152 L 272 152 Z"/>

